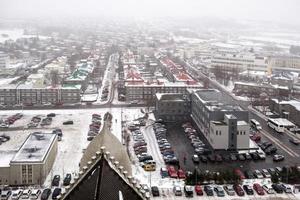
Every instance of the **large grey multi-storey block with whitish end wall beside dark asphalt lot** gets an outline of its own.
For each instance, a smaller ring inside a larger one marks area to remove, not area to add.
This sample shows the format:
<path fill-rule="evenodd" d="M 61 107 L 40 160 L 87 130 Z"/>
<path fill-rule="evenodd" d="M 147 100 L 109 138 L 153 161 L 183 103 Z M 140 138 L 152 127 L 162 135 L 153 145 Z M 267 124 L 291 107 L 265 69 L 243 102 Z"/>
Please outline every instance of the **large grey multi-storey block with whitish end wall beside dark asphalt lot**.
<path fill-rule="evenodd" d="M 189 90 L 191 117 L 213 149 L 249 149 L 248 111 L 214 89 Z"/>

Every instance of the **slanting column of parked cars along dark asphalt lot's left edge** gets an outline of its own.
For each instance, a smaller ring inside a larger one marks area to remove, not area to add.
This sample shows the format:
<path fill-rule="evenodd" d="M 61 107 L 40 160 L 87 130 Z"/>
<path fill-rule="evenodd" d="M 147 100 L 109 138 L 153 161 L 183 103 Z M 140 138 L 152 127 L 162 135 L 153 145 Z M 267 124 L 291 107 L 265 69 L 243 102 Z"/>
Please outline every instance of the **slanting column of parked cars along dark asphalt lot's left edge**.
<path fill-rule="evenodd" d="M 158 147 L 167 165 L 179 165 L 179 160 L 175 155 L 172 145 L 167 139 L 167 129 L 162 123 L 154 123 L 153 130 L 158 142 Z"/>

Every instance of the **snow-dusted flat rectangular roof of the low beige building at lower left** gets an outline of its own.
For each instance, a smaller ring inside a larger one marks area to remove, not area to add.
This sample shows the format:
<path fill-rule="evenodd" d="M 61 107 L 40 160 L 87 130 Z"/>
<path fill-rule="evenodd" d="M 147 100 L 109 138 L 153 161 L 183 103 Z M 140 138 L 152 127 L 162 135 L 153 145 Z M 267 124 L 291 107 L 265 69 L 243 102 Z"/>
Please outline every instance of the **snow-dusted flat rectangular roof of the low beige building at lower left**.
<path fill-rule="evenodd" d="M 11 162 L 42 162 L 55 138 L 52 133 L 30 134 Z"/>

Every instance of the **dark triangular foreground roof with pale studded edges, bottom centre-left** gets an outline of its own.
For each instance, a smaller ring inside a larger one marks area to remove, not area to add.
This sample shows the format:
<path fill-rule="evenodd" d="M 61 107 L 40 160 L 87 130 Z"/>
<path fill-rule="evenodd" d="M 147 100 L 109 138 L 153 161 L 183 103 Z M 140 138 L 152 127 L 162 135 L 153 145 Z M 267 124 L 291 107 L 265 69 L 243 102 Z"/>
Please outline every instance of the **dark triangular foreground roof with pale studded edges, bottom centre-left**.
<path fill-rule="evenodd" d="M 111 166 L 104 155 L 70 189 L 64 200 L 142 200 L 142 196 Z"/>

